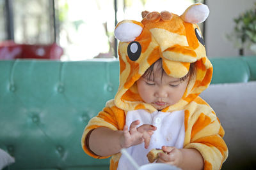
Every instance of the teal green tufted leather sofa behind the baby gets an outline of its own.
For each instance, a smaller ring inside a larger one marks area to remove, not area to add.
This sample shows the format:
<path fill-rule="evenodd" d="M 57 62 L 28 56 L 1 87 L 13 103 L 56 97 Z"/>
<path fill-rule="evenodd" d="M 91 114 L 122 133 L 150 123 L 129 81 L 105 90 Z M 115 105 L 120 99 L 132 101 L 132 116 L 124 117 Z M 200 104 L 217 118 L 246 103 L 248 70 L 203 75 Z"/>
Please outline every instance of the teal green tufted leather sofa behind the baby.
<path fill-rule="evenodd" d="M 211 62 L 212 85 L 256 80 L 256 57 Z M 1 60 L 0 148 L 15 157 L 5 169 L 108 169 L 109 159 L 83 152 L 81 135 L 88 120 L 115 96 L 118 73 L 118 61 L 112 59 Z M 235 163 L 227 160 L 223 169 Z"/>

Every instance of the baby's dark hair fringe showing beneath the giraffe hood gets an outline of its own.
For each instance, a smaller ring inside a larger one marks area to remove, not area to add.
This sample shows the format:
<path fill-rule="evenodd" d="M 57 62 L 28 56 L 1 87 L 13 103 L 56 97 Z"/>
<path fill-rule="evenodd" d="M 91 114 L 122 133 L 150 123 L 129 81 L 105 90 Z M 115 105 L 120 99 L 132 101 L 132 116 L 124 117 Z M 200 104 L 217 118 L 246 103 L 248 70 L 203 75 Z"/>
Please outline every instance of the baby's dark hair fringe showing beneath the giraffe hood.
<path fill-rule="evenodd" d="M 163 78 L 163 73 L 164 73 L 164 69 L 163 69 L 163 64 L 162 64 L 162 59 L 158 59 L 156 62 L 154 62 L 150 67 L 148 67 L 148 69 L 145 71 L 145 73 L 142 75 L 143 78 L 147 78 L 147 80 L 150 80 L 150 78 L 153 76 L 153 81 L 154 81 L 154 66 L 155 64 L 159 62 L 156 70 L 160 71 L 159 69 L 161 69 L 162 72 L 162 78 Z M 196 67 L 195 67 L 195 62 L 192 62 L 189 66 L 189 71 L 188 73 L 180 78 L 180 81 L 185 81 L 188 77 L 189 79 L 194 76 L 196 73 Z"/>

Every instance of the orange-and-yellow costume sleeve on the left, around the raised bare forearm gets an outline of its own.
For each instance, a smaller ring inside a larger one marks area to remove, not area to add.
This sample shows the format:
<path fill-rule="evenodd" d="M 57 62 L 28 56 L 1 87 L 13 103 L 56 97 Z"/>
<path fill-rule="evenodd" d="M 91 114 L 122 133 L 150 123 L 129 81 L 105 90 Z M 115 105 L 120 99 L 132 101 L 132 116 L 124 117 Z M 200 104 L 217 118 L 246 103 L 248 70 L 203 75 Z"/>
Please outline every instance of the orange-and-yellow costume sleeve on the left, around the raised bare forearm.
<path fill-rule="evenodd" d="M 90 136 L 90 132 L 92 132 L 93 129 L 96 129 L 98 127 L 108 127 L 113 131 L 119 131 L 124 129 L 124 125 L 125 125 L 124 110 L 117 108 L 113 100 L 109 101 L 106 104 L 106 107 L 99 112 L 97 117 L 93 117 L 90 120 L 90 122 L 88 122 L 88 125 L 84 129 L 83 136 L 81 139 L 81 145 L 84 152 L 96 159 L 106 159 L 110 157 L 111 155 L 109 155 L 108 157 L 101 157 L 99 155 L 96 155 L 92 151 L 90 151 L 90 148 L 86 146 L 86 139 L 88 136 Z"/>

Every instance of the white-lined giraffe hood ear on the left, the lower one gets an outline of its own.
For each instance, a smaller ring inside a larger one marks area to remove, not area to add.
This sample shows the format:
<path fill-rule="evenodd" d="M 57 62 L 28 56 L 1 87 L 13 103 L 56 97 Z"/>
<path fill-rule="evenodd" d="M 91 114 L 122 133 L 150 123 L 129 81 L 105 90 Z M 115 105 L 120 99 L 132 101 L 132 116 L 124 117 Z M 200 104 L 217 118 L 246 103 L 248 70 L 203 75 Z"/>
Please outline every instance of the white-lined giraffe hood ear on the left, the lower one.
<path fill-rule="evenodd" d="M 134 20 L 123 20 L 118 23 L 115 28 L 115 37 L 122 42 L 134 41 L 140 36 L 143 29 L 143 24 Z"/>

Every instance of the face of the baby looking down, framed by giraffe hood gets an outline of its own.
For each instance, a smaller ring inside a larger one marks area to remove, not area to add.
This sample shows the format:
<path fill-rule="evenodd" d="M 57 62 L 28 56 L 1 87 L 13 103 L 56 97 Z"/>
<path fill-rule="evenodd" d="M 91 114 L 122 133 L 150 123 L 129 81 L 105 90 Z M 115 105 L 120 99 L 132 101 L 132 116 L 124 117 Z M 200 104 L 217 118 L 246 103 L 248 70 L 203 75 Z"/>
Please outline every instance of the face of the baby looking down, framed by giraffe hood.
<path fill-rule="evenodd" d="M 145 103 L 152 104 L 157 110 L 177 103 L 183 96 L 188 85 L 188 79 L 180 81 L 179 78 L 168 76 L 154 66 L 154 80 L 141 78 L 137 81 L 138 92 Z"/>

